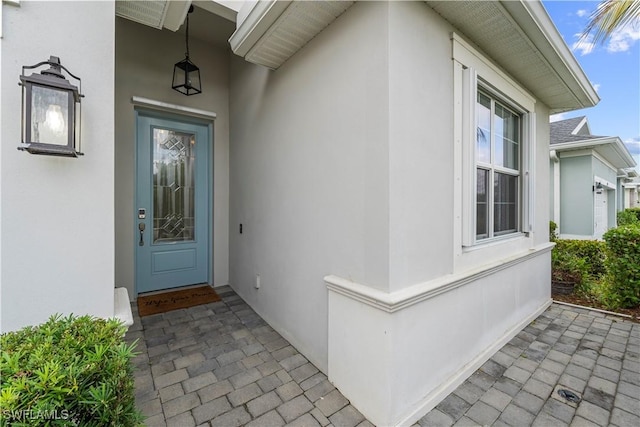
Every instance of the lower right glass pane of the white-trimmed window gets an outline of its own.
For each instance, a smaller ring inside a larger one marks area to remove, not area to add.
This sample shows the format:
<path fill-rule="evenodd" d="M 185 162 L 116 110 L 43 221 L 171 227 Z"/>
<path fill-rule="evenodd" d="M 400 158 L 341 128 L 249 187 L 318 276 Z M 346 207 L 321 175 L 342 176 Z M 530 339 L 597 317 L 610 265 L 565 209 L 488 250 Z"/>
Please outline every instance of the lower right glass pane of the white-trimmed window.
<path fill-rule="evenodd" d="M 495 235 L 517 231 L 518 177 L 495 173 L 493 231 Z"/>

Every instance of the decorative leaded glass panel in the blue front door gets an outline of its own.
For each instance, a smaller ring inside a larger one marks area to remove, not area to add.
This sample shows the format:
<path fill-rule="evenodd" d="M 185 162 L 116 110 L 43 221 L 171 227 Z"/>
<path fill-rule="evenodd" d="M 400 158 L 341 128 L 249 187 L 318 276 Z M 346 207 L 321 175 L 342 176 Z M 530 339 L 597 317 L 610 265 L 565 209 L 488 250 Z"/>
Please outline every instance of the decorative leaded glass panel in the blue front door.
<path fill-rule="evenodd" d="M 194 134 L 153 129 L 153 243 L 192 241 L 195 230 Z"/>

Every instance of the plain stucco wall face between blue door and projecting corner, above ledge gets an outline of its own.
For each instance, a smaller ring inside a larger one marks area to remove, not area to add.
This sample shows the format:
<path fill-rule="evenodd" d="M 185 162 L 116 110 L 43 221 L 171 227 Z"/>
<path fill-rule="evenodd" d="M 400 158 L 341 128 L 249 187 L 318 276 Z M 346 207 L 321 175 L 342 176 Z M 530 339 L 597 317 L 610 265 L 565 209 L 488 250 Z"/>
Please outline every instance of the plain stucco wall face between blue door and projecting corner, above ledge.
<path fill-rule="evenodd" d="M 276 72 L 231 63 L 230 282 L 322 370 L 323 277 L 389 286 L 386 8 L 356 3 Z"/>

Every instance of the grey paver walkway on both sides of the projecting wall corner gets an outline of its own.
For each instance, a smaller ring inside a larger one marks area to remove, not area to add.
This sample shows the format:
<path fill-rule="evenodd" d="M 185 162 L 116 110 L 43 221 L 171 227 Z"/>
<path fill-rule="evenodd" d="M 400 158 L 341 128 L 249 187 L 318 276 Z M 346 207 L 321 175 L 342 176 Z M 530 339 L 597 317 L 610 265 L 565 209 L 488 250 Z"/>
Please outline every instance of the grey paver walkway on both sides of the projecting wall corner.
<path fill-rule="evenodd" d="M 127 339 L 149 426 L 370 426 L 230 287 Z M 577 403 L 558 390 L 573 392 Z M 553 304 L 415 426 L 640 426 L 640 324 Z"/>

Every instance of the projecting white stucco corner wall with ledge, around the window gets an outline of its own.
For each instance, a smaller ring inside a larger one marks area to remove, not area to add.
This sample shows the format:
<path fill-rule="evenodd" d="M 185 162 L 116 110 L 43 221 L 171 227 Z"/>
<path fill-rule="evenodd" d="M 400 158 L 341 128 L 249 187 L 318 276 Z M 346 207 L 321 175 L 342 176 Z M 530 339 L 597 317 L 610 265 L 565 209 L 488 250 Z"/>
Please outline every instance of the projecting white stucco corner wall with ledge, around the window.
<path fill-rule="evenodd" d="M 453 31 L 357 2 L 277 71 L 232 59 L 231 285 L 376 425 L 415 422 L 550 303 L 531 94 L 533 228 L 462 246 Z"/>

